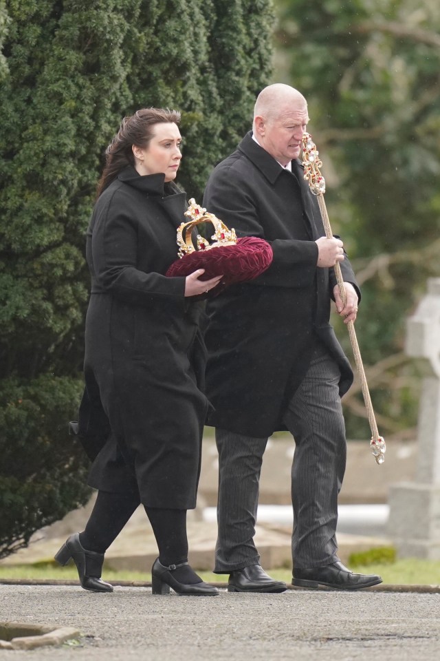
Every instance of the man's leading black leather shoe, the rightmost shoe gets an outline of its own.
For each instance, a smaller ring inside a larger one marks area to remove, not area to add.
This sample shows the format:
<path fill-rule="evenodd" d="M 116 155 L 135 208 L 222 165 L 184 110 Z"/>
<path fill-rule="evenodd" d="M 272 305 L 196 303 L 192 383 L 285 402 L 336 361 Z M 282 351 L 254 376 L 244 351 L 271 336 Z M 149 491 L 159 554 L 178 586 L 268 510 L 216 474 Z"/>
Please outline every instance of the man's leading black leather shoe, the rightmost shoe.
<path fill-rule="evenodd" d="M 336 590 L 360 590 L 362 587 L 371 587 L 382 583 L 377 574 L 353 574 L 353 571 L 344 567 L 341 562 L 325 565 L 324 567 L 311 567 L 311 569 L 294 569 L 293 585 L 300 587 L 332 587 Z"/>

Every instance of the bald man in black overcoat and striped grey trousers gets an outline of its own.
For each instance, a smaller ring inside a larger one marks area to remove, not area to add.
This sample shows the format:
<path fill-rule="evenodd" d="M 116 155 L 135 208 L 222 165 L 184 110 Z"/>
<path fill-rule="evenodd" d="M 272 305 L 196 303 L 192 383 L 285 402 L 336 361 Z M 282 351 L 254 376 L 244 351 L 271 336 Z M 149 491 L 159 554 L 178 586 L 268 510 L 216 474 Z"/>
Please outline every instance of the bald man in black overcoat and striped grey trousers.
<path fill-rule="evenodd" d="M 358 589 L 380 576 L 353 574 L 338 558 L 338 493 L 346 463 L 341 395 L 353 380 L 329 324 L 331 297 L 345 322 L 360 292 L 339 238 L 327 239 L 316 198 L 298 160 L 307 102 L 288 85 L 265 87 L 253 130 L 212 172 L 203 206 L 237 235 L 264 238 L 274 260 L 263 275 L 236 284 L 208 306 L 209 424 L 219 450 L 217 574 L 230 591 L 281 592 L 254 545 L 259 476 L 267 437 L 289 430 L 294 585 Z M 340 262 L 347 296 L 338 291 Z"/>

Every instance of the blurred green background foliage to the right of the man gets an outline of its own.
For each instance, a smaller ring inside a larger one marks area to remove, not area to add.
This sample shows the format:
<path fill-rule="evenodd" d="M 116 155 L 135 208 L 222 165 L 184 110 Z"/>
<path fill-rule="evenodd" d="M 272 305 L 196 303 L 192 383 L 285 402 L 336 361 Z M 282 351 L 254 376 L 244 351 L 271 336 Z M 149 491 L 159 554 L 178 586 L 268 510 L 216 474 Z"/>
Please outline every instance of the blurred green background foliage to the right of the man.
<path fill-rule="evenodd" d="M 309 101 L 332 228 L 360 275 L 362 357 L 377 372 L 403 350 L 405 318 L 426 278 L 440 274 L 438 3 L 277 4 L 286 82 Z M 351 356 L 347 333 L 338 336 Z M 417 383 L 404 361 L 373 381 L 384 434 L 414 426 Z M 358 414 L 362 405 L 346 401 Z M 367 430 L 357 415 L 347 417 L 351 437 Z"/>

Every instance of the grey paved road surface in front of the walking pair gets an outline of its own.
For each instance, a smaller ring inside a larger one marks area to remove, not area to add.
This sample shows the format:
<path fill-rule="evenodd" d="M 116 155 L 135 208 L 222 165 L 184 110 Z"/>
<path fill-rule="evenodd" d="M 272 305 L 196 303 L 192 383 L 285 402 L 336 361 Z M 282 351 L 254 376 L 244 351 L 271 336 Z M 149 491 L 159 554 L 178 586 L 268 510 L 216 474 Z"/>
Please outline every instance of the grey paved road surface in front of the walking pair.
<path fill-rule="evenodd" d="M 80 647 L 0 651 L 3 661 L 417 661 L 439 658 L 439 594 L 289 590 L 153 596 L 117 587 L 0 585 L 0 620 L 78 627 Z"/>

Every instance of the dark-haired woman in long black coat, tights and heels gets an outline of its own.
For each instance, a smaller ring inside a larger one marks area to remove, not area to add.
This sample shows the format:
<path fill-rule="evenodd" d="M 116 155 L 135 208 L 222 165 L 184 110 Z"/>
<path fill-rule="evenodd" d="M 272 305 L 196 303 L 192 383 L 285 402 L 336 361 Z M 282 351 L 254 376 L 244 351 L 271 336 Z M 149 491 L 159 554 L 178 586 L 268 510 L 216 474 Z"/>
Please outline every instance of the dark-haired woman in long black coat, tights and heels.
<path fill-rule="evenodd" d="M 104 552 L 142 503 L 159 558 L 153 594 L 218 594 L 188 565 L 186 510 L 195 507 L 201 434 L 205 323 L 199 295 L 220 277 L 203 270 L 165 277 L 177 257 L 186 200 L 173 183 L 181 160 L 178 112 L 147 108 L 122 121 L 87 231 L 91 297 L 85 334 L 85 395 L 78 434 L 94 459 L 98 489 L 83 532 L 56 554 L 73 558 L 80 583 L 101 580 Z"/>

